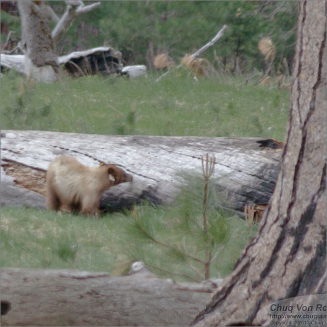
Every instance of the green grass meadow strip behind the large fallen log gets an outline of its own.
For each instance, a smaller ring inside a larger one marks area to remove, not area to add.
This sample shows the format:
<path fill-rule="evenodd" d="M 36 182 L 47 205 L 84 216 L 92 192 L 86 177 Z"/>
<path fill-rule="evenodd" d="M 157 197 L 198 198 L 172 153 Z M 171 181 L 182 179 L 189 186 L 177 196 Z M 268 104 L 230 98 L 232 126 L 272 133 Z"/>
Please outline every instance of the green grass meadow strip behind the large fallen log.
<path fill-rule="evenodd" d="M 98 134 L 284 139 L 289 91 L 182 71 L 129 80 L 86 76 L 52 84 L 2 77 L 1 128 Z"/>

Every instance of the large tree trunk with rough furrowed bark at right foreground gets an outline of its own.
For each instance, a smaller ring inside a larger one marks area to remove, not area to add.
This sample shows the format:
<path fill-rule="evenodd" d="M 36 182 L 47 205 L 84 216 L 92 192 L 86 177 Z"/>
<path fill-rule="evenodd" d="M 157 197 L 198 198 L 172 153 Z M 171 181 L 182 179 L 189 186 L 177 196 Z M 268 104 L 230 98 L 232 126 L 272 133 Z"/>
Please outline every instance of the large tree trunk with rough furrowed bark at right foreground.
<path fill-rule="evenodd" d="M 325 293 L 326 3 L 299 3 L 287 141 L 259 236 L 193 322 L 256 325 L 258 310 Z M 269 321 L 260 321 L 269 323 Z"/>

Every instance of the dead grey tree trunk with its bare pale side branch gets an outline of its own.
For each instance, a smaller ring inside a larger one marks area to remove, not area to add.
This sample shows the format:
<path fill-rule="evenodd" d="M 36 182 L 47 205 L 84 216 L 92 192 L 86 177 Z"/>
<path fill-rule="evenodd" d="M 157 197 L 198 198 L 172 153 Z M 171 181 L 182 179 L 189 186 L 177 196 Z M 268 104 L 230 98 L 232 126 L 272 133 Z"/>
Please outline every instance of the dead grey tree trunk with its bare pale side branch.
<path fill-rule="evenodd" d="M 83 2 L 74 0 L 66 0 L 66 4 L 66 11 L 59 19 L 44 1 L 18 1 L 22 30 L 21 43 L 25 52 L 23 72 L 28 78 L 44 82 L 58 80 L 60 75 L 55 43 L 64 35 L 77 16 L 100 6 L 100 2 L 84 6 Z M 57 25 L 51 33 L 50 17 L 54 16 Z M 5 67 L 17 67 L 16 70 L 21 71 L 17 63 L 21 57 L 2 55 L 2 60 L 7 62 Z"/>

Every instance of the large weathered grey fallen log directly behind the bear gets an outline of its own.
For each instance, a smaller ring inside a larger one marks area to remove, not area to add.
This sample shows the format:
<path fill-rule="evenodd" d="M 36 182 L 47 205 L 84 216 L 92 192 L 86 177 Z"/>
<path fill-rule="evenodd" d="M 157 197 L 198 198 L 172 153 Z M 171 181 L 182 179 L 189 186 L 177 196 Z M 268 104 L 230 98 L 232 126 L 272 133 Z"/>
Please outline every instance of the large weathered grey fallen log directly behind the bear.
<path fill-rule="evenodd" d="M 103 193 L 101 208 L 114 211 L 141 200 L 169 204 L 179 192 L 181 172 L 201 174 L 201 156 L 215 156 L 213 180 L 224 207 L 242 215 L 244 205 L 260 213 L 275 188 L 281 157 L 275 141 L 258 138 L 147 137 L 44 131 L 3 131 L 1 204 L 44 207 L 45 172 L 57 155 L 89 166 L 113 163 L 132 183 Z M 43 200 L 42 200 L 43 199 Z"/>

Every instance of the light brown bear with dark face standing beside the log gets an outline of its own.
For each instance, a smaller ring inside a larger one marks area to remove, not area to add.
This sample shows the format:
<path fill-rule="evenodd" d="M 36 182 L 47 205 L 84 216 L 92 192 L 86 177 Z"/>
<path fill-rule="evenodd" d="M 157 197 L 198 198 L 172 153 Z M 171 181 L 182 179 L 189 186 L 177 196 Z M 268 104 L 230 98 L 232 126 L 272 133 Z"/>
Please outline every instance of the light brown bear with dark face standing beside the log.
<path fill-rule="evenodd" d="M 97 215 L 101 193 L 132 176 L 114 165 L 87 167 L 74 157 L 60 155 L 50 162 L 46 173 L 46 208 L 62 206 L 73 212 Z"/>

